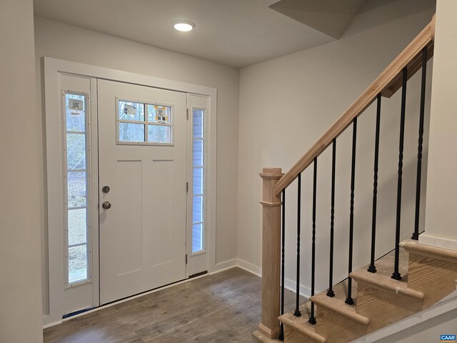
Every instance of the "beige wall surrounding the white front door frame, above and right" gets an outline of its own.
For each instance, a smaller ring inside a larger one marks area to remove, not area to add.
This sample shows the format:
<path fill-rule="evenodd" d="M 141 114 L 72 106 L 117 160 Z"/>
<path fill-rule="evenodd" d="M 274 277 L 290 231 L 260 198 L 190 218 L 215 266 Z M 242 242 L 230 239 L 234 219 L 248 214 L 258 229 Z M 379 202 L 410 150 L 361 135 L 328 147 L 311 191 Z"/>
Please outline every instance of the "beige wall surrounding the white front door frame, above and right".
<path fill-rule="evenodd" d="M 41 17 L 35 17 L 35 44 L 36 68 L 41 70 L 36 80 L 40 106 L 44 95 L 43 56 L 218 89 L 216 263 L 236 258 L 237 209 L 233 204 L 236 204 L 237 189 L 233 185 L 237 184 L 238 178 L 238 69 Z M 39 156 L 44 169 L 43 149 L 39 151 Z M 45 179 L 43 172 L 40 177 L 41 180 Z M 41 192 L 44 192 L 43 187 Z M 41 211 L 45 211 L 44 205 Z M 41 226 L 43 249 L 47 251 L 46 223 L 43 222 Z M 43 265 L 46 267 L 45 259 Z M 45 313 L 46 306 L 45 298 Z"/>

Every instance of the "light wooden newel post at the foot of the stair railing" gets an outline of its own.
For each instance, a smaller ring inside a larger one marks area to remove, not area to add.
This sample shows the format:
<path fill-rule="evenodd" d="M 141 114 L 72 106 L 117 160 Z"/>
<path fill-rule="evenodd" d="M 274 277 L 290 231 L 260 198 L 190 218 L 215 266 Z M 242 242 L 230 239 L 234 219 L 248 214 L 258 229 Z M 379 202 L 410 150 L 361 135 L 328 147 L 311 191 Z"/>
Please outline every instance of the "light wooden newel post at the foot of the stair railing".
<path fill-rule="evenodd" d="M 262 317 L 258 331 L 269 338 L 279 335 L 279 295 L 281 259 L 281 195 L 273 189 L 283 176 L 281 168 L 263 168 L 262 196 Z"/>

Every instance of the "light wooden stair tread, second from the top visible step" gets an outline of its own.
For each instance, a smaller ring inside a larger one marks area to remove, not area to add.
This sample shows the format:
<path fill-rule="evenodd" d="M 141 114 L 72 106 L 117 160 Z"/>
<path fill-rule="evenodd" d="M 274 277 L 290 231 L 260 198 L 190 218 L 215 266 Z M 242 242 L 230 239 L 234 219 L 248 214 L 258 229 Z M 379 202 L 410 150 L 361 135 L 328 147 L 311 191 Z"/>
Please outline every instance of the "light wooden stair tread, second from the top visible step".
<path fill-rule="evenodd" d="M 366 269 L 358 269 L 356 272 L 349 274 L 351 278 L 356 282 L 368 284 L 371 287 L 383 289 L 388 292 L 405 295 L 413 299 L 423 300 L 423 293 L 415 291 L 414 289 L 408 289 L 408 283 L 392 279 L 390 276 L 371 273 Z"/>

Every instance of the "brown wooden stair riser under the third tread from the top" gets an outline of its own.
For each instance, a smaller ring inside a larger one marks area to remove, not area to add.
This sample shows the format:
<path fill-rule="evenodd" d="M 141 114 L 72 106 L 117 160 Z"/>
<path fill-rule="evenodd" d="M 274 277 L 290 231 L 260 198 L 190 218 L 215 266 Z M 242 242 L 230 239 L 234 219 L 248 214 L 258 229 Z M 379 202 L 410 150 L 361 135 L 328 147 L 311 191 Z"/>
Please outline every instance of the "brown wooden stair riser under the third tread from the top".
<path fill-rule="evenodd" d="M 327 343 L 350 342 L 368 333 L 368 325 L 358 324 L 325 307 L 318 307 L 316 325 L 316 333 L 326 337 Z"/>

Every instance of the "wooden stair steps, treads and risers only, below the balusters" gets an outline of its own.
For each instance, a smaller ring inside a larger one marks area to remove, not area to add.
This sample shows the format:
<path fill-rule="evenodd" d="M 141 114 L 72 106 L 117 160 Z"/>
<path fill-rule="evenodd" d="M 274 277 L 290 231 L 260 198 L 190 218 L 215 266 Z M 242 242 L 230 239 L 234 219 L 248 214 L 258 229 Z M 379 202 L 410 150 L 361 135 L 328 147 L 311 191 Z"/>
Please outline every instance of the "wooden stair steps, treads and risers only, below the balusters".
<path fill-rule="evenodd" d="M 431 307 L 456 290 L 457 252 L 428 247 L 417 241 L 401 243 L 401 274 L 391 278 L 393 254 L 376 263 L 373 274 L 367 267 L 350 274 L 356 281 L 353 305 L 344 302 L 346 283 L 334 288 L 335 297 L 321 292 L 311 297 L 316 304 L 315 325 L 308 323 L 309 302 L 301 308 L 302 316 L 283 314 L 286 343 L 343 343 L 386 327 Z M 258 342 L 281 342 L 261 332 L 253 332 Z"/>

